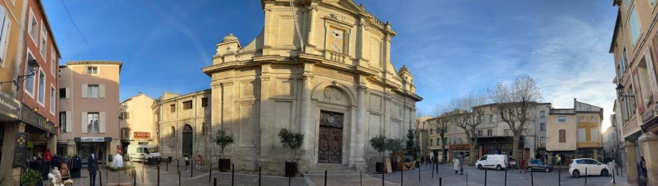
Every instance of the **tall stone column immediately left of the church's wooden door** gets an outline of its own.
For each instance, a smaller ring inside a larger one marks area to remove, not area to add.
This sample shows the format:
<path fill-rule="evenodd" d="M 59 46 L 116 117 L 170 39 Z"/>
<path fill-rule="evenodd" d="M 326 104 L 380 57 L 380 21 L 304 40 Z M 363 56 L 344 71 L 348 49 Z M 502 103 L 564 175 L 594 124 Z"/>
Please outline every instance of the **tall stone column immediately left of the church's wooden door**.
<path fill-rule="evenodd" d="M 304 133 L 306 135 L 306 140 L 304 140 L 304 144 L 301 145 L 301 150 L 303 154 L 303 157 L 309 157 L 311 149 L 309 147 L 309 138 L 315 137 L 315 135 L 311 135 L 314 132 L 310 131 L 311 129 L 311 76 L 304 74 L 301 76 L 302 78 L 302 83 L 301 83 L 301 117 L 299 120 L 299 131 L 301 133 Z"/>

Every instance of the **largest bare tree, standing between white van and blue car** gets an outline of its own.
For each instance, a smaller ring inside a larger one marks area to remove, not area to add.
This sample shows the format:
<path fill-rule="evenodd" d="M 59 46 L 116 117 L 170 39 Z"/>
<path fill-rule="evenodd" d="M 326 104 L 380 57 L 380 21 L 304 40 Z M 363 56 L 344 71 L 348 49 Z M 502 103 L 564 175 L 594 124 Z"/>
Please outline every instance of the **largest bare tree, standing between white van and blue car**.
<path fill-rule="evenodd" d="M 535 118 L 535 108 L 542 92 L 530 76 L 519 76 L 514 83 L 497 83 L 489 90 L 495 112 L 513 133 L 512 156 L 519 155 L 519 143 L 528 122 Z M 517 159 L 520 157 L 516 157 Z"/>

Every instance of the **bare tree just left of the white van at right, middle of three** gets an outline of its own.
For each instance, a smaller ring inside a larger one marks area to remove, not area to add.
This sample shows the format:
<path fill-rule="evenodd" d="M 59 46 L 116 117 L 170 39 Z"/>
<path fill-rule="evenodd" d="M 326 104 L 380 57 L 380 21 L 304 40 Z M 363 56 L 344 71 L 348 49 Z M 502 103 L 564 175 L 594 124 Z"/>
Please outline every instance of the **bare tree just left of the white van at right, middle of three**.
<path fill-rule="evenodd" d="M 455 126 L 464 129 L 470 146 L 470 164 L 475 163 L 476 147 L 478 145 L 478 135 L 476 128 L 482 124 L 484 110 L 481 105 L 486 103 L 486 98 L 480 93 L 470 93 L 464 97 L 455 99 L 451 102 L 451 108 L 454 110 L 447 116 Z"/>

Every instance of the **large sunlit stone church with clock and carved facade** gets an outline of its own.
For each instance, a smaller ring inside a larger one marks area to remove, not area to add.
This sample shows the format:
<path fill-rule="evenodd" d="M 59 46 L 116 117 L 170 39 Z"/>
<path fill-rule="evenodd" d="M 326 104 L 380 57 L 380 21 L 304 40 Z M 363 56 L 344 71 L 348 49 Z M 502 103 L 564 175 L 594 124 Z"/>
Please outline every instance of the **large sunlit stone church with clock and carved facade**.
<path fill-rule="evenodd" d="M 374 170 L 380 159 L 369 139 L 405 139 L 422 100 L 409 69 L 390 61 L 391 25 L 351 0 L 261 4 L 261 34 L 245 45 L 226 35 L 203 68 L 212 79 L 212 131 L 236 136 L 225 154 L 240 170 L 283 172 L 290 149 L 278 131 L 288 128 L 305 134 L 300 172 Z"/>

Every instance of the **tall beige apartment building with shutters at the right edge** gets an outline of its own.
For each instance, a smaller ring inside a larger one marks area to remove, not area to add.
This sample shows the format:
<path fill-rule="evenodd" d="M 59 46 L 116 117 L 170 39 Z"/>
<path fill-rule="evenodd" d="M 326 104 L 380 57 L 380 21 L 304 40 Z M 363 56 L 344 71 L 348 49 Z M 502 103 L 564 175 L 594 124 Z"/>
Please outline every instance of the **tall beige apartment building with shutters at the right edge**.
<path fill-rule="evenodd" d="M 658 185 L 658 35 L 656 1 L 613 0 L 619 7 L 609 52 L 615 55 L 621 128 L 626 141 L 626 171 L 631 184 Z M 647 174 L 638 174 L 642 157 Z M 641 181 L 643 183 L 638 183 Z"/>

